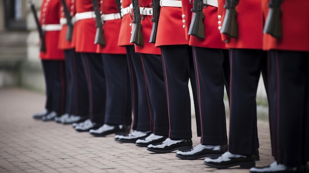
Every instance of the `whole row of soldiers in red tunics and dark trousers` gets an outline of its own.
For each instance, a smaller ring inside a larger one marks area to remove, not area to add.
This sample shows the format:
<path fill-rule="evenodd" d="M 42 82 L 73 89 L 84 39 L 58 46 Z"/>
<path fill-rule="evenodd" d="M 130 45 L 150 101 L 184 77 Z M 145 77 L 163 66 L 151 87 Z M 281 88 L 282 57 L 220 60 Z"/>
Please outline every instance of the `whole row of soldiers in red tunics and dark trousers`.
<path fill-rule="evenodd" d="M 308 0 L 43 0 L 47 100 L 34 118 L 218 169 L 308 173 L 308 9 Z M 261 72 L 274 162 L 255 168 Z"/>

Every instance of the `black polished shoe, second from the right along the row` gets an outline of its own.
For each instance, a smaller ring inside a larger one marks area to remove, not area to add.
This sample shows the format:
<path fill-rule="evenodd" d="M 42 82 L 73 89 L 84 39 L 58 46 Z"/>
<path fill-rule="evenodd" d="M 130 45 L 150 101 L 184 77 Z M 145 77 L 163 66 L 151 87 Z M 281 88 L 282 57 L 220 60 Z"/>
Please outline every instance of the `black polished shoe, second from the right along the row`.
<path fill-rule="evenodd" d="M 250 169 L 255 167 L 255 157 L 254 155 L 236 155 L 227 151 L 218 158 L 206 158 L 204 160 L 204 165 L 217 169 L 226 169 L 233 166 L 240 166 L 240 168 L 243 169 Z"/>

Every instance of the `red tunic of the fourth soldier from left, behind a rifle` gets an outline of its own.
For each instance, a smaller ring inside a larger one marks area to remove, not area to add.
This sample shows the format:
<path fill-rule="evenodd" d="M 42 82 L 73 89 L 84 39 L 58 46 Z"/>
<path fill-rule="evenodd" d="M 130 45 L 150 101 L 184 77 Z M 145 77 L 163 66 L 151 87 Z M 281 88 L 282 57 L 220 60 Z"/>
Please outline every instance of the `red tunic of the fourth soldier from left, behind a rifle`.
<path fill-rule="evenodd" d="M 101 0 L 102 14 L 119 13 L 115 0 Z M 103 34 L 105 46 L 97 44 L 97 53 L 126 54 L 125 47 L 118 46 L 121 19 L 108 20 L 104 22 Z"/>

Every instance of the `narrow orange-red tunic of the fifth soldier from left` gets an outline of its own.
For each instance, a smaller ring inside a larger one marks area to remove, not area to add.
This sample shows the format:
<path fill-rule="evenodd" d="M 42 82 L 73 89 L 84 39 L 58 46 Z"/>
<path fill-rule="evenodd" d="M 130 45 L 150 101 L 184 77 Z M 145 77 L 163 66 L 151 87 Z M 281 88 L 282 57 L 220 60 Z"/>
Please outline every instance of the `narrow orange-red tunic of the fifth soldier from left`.
<path fill-rule="evenodd" d="M 122 0 L 121 6 L 123 8 L 128 7 L 132 3 L 132 0 Z M 132 32 L 132 16 L 130 13 L 122 16 L 119 38 L 118 38 L 118 46 L 127 46 L 133 45 L 130 43 L 131 32 Z"/>

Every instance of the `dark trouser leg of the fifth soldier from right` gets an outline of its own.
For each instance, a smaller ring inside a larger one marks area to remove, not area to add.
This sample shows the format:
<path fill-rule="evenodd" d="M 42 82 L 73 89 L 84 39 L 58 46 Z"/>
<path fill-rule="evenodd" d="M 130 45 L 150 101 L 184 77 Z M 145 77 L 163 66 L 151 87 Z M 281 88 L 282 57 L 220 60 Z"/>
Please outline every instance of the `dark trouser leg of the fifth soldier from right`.
<path fill-rule="evenodd" d="M 141 60 L 153 108 L 154 135 L 168 136 L 169 121 L 162 57 L 160 55 L 141 54 Z"/>

